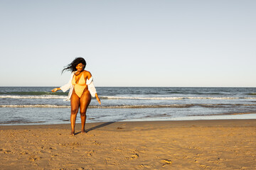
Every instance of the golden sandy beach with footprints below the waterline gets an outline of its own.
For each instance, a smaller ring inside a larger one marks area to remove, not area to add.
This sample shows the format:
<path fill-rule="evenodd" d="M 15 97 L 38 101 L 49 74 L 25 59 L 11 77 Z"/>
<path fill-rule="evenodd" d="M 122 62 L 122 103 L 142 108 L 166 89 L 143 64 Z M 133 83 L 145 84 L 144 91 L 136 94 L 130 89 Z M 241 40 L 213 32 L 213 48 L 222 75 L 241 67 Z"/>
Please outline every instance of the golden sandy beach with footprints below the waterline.
<path fill-rule="evenodd" d="M 256 120 L 0 126 L 1 169 L 256 169 Z"/>

